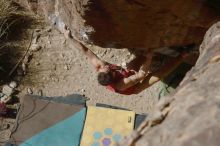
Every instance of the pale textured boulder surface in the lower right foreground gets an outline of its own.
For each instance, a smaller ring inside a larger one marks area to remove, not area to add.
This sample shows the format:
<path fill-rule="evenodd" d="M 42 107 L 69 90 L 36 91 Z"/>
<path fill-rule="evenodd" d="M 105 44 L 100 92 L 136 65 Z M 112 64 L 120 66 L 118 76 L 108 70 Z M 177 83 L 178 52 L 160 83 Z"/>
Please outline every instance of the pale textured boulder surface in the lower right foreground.
<path fill-rule="evenodd" d="M 200 51 L 195 67 L 173 96 L 168 116 L 135 146 L 219 146 L 220 22 L 206 33 Z"/>

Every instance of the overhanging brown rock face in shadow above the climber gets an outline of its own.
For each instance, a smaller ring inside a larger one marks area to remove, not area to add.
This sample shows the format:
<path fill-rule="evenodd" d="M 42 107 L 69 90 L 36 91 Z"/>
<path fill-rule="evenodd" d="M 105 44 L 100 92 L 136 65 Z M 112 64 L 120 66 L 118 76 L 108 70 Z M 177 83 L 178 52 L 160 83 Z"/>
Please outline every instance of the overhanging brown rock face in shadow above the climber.
<path fill-rule="evenodd" d="M 219 18 L 219 12 L 209 7 L 210 0 L 17 1 L 54 24 L 67 25 L 84 42 L 112 48 L 200 44 Z"/>

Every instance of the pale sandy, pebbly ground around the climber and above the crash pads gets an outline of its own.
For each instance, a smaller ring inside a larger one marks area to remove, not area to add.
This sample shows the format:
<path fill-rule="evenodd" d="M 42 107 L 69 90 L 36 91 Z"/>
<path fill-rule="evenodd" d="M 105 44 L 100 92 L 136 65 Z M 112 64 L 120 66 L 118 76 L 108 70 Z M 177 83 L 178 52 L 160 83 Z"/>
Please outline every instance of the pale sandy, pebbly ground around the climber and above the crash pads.
<path fill-rule="evenodd" d="M 48 31 L 49 30 L 49 31 Z M 33 53 L 27 75 L 19 86 L 19 96 L 41 91 L 44 96 L 83 94 L 90 100 L 88 105 L 103 103 L 127 108 L 136 113 L 149 113 L 158 100 L 160 84 L 157 83 L 137 95 L 125 96 L 113 93 L 98 85 L 96 72 L 85 55 L 71 47 L 56 29 L 44 27 L 37 44 L 42 48 Z M 134 58 L 127 49 L 91 48 L 100 58 L 114 64 L 129 62 Z"/>

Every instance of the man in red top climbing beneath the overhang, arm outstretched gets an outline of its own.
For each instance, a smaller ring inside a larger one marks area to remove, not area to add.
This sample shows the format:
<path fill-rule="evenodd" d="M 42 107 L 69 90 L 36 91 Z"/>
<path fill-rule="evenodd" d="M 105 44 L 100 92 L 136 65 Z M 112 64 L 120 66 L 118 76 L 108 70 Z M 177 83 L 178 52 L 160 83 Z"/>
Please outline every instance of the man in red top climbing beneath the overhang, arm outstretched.
<path fill-rule="evenodd" d="M 67 38 L 69 43 L 83 51 L 88 57 L 91 64 L 98 72 L 97 79 L 99 84 L 106 86 L 107 89 L 119 94 L 131 95 L 141 92 L 143 88 L 151 86 L 170 73 L 185 58 L 183 55 L 179 55 L 179 57 L 175 58 L 173 62 L 162 67 L 157 72 L 149 73 L 148 71 L 153 57 L 153 52 L 149 50 L 146 54 L 145 62 L 140 67 L 139 71 L 128 70 L 120 66 L 107 63 L 98 58 L 85 45 L 74 39 L 69 30 L 64 33 L 64 36 Z"/>

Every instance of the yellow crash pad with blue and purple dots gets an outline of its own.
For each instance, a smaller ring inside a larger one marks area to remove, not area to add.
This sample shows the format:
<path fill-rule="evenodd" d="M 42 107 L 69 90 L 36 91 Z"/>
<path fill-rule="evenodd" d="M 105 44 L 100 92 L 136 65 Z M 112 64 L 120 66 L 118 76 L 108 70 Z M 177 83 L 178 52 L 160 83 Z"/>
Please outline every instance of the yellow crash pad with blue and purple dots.
<path fill-rule="evenodd" d="M 80 146 L 114 146 L 134 128 L 135 113 L 89 106 Z"/>

